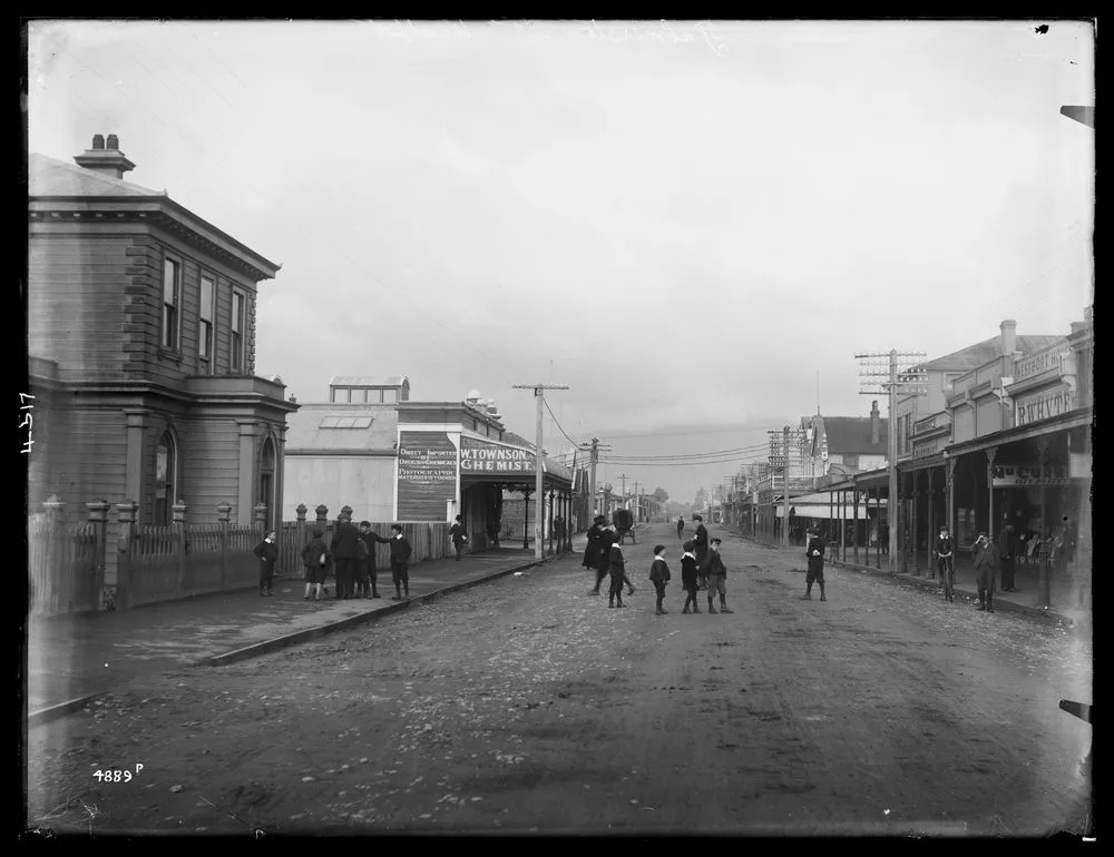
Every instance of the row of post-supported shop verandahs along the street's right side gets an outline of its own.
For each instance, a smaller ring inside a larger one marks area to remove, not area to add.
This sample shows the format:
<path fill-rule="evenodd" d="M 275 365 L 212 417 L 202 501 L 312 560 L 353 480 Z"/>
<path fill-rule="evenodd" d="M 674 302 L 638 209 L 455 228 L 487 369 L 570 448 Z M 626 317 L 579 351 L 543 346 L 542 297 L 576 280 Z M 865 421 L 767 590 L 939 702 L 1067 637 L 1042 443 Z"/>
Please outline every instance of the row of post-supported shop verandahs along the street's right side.
<path fill-rule="evenodd" d="M 899 461 L 895 504 L 899 560 L 905 567 L 930 568 L 941 525 L 949 528 L 957 555 L 969 558 L 979 532 L 997 536 L 1008 521 L 1017 536 L 1048 538 L 1062 528 L 1068 550 L 1075 549 L 1074 564 L 1089 570 L 1092 418 L 1089 407 L 1077 408 L 1039 424 L 952 444 L 931 456 Z M 885 555 L 885 539 L 879 535 L 890 524 L 888 501 L 886 469 L 808 493 L 802 490 L 795 496 L 791 490 L 791 532 L 815 524 L 842 540 L 844 550 L 869 545 Z M 782 503 L 782 496 L 758 506 L 744 502 L 736 523 L 780 541 Z"/>

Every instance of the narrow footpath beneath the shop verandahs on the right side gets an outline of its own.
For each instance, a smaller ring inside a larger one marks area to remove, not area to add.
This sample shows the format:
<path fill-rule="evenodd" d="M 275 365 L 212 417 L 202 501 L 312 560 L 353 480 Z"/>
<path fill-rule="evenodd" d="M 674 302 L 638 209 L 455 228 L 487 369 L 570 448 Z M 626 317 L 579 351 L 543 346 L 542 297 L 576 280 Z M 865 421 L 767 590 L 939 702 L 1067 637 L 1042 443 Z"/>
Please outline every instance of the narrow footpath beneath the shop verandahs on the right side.
<path fill-rule="evenodd" d="M 804 548 L 802 545 L 785 548 L 781 544 L 771 544 L 770 542 L 751 539 L 745 535 L 741 538 L 770 550 L 784 551 L 786 554 L 795 554 L 800 558 L 802 568 L 804 567 Z M 828 559 L 824 561 L 824 564 L 860 571 L 866 574 L 885 575 L 908 585 L 921 587 L 924 589 L 937 591 L 940 593 L 941 598 L 944 597 L 944 589 L 940 585 L 940 581 L 934 578 L 931 575 L 931 571 L 928 569 L 921 569 L 920 574 L 913 573 L 912 567 L 909 567 L 908 571 L 905 572 L 898 571 L 891 573 L 886 568 L 888 560 L 886 554 L 881 555 L 882 568 L 877 568 L 873 564 L 876 562 L 873 551 L 870 553 L 871 564 L 867 564 L 864 551 L 860 551 L 860 558 L 862 558 L 862 561 L 859 563 L 853 561 L 844 562 Z M 1016 592 L 1000 591 L 1000 589 L 998 589 L 998 587 L 1000 587 L 1000 582 L 999 577 L 998 585 L 996 585 L 994 593 L 995 610 L 1017 610 L 1033 615 L 1040 615 L 1046 619 L 1059 621 L 1066 625 L 1084 625 L 1091 622 L 1092 611 L 1087 608 L 1078 605 L 1078 590 L 1072 585 L 1071 581 L 1053 580 L 1053 584 L 1051 587 L 1052 604 L 1047 608 L 1043 607 L 1040 603 L 1040 581 L 1035 565 L 1018 564 L 1015 568 L 1014 588 L 1017 590 Z M 975 572 L 970 568 L 969 561 L 960 560 L 956 563 L 955 592 L 957 602 L 960 599 L 965 599 L 967 601 L 978 601 L 978 587 L 975 584 Z"/>

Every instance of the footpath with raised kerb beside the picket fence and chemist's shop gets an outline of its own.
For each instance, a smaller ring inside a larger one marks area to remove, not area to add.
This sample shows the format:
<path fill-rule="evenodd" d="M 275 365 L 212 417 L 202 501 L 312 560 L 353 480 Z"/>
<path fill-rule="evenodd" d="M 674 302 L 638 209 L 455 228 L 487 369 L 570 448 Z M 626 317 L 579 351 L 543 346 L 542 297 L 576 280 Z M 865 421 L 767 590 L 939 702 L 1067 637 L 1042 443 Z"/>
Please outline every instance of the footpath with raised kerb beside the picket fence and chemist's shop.
<path fill-rule="evenodd" d="M 574 538 L 583 550 L 584 536 Z M 541 564 L 559 560 L 556 554 Z M 27 623 L 28 725 L 80 708 L 145 674 L 183 667 L 219 666 L 295 646 L 405 610 L 458 589 L 537 565 L 532 548 L 502 548 L 410 569 L 410 599 L 392 601 L 390 571 L 380 570 L 379 599 L 305 601 L 305 582 L 275 578 L 274 595 L 256 589 L 198 595 L 91 615 L 29 617 Z"/>

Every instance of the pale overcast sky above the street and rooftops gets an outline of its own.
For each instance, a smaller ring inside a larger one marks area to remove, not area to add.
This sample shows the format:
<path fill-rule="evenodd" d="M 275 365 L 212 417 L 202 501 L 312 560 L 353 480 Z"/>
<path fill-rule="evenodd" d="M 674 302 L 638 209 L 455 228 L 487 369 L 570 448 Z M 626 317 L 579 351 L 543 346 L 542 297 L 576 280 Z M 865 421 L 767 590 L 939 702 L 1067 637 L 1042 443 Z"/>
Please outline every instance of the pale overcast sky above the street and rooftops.
<path fill-rule="evenodd" d="M 282 265 L 256 373 L 299 401 L 405 374 L 532 439 L 511 385 L 567 384 L 615 455 L 744 450 L 602 473 L 692 500 L 818 373 L 866 415 L 857 352 L 1082 318 L 1094 132 L 1059 108 L 1094 104 L 1093 29 L 1040 23 L 43 21 L 28 146 L 116 134 L 127 180 Z"/>

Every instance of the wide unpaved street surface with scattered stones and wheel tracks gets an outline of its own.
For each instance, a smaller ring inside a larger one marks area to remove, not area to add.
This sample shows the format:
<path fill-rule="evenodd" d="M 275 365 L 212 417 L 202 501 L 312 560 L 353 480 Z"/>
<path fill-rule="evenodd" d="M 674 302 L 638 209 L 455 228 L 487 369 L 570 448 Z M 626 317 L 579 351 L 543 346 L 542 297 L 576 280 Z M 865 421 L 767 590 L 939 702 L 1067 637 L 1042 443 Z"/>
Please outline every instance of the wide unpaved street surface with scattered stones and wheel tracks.
<path fill-rule="evenodd" d="M 1091 640 L 725 536 L 732 614 L 683 615 L 675 531 L 358 631 L 187 668 L 32 730 L 55 833 L 1039 835 L 1081 830 Z M 654 615 L 651 545 L 670 546 Z M 707 607 L 701 593 L 701 610 Z M 136 774 L 136 766 L 143 769 Z M 98 784 L 117 767 L 130 782 Z"/>

